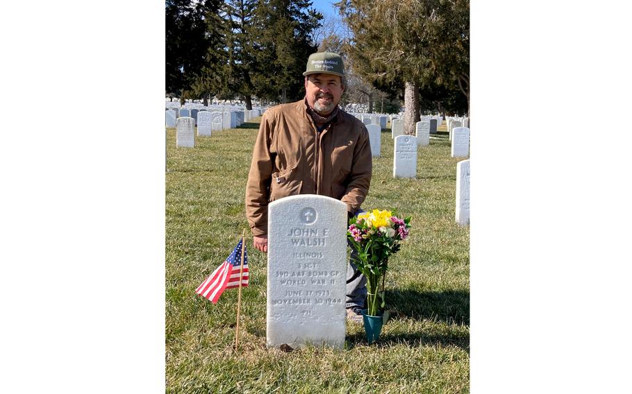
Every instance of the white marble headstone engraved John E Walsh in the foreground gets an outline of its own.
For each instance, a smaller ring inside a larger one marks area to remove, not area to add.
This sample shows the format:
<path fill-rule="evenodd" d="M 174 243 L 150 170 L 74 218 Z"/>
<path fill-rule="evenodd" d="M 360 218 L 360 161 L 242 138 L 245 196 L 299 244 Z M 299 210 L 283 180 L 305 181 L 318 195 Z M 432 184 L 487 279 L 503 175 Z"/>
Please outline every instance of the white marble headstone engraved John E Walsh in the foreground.
<path fill-rule="evenodd" d="M 268 205 L 266 342 L 342 349 L 347 287 L 347 205 L 290 196 Z"/>

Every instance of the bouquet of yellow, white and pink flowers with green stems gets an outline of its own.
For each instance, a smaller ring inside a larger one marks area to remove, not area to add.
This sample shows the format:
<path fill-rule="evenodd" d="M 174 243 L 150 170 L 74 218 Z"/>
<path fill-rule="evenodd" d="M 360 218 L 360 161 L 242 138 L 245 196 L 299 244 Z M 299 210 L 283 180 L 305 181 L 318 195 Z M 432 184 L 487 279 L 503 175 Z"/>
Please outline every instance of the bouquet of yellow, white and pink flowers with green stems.
<path fill-rule="evenodd" d="M 379 209 L 349 219 L 347 238 L 353 250 L 351 259 L 367 278 L 365 315 L 380 316 L 385 307 L 384 282 L 388 258 L 399 250 L 401 241 L 408 237 L 409 223 L 410 217 L 399 219 L 397 212 Z M 366 322 L 365 319 L 365 328 Z"/>

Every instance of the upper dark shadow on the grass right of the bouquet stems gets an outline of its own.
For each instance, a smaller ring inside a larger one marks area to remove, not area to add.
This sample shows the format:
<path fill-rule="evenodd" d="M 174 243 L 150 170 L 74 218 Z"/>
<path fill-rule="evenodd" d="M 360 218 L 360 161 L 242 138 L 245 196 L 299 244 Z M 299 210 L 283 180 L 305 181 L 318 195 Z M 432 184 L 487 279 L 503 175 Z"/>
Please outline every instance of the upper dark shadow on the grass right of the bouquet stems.
<path fill-rule="evenodd" d="M 387 291 L 392 318 L 439 320 L 449 324 L 469 325 L 469 291 Z"/>

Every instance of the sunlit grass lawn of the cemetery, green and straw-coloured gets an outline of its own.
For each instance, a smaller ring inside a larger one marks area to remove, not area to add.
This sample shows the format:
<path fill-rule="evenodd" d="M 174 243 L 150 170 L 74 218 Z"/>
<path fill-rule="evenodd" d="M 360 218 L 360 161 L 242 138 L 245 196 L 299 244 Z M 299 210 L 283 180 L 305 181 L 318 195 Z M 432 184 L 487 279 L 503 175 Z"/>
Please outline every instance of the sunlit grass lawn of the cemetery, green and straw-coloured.
<path fill-rule="evenodd" d="M 469 227 L 454 221 L 456 163 L 446 126 L 419 148 L 417 179 L 392 178 L 390 128 L 381 132 L 364 209 L 413 216 L 389 262 L 392 318 L 377 343 L 347 323 L 345 350 L 266 347 L 266 255 L 247 248 L 240 346 L 237 289 L 217 305 L 194 291 L 230 254 L 244 228 L 244 191 L 260 118 L 176 148 L 167 129 L 165 384 L 167 393 L 468 393 Z M 388 125 L 390 127 L 390 125 Z"/>

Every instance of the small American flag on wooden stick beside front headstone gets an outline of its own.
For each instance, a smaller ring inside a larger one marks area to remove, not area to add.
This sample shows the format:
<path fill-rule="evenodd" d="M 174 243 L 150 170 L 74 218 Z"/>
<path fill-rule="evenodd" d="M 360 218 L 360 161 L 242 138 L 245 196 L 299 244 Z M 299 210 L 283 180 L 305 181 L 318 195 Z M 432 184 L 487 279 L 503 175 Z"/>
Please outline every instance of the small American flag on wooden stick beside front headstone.
<path fill-rule="evenodd" d="M 195 293 L 217 304 L 219 295 L 226 289 L 239 287 L 239 271 L 242 262 L 242 239 L 226 260 L 198 286 Z M 242 287 L 248 286 L 248 253 L 244 247 L 244 271 L 242 275 Z"/>

